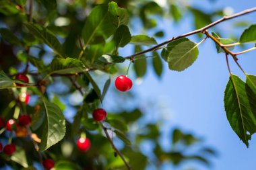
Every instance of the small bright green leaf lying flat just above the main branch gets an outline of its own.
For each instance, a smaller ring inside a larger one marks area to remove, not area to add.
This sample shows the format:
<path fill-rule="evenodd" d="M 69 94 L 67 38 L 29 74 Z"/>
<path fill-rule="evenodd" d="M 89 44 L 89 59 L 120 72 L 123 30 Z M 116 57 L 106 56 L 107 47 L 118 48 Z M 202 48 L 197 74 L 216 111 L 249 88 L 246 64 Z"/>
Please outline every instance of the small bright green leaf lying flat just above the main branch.
<path fill-rule="evenodd" d="M 151 38 L 146 35 L 137 35 L 131 37 L 131 44 L 140 45 L 140 46 L 152 46 L 158 44 L 154 38 Z"/>

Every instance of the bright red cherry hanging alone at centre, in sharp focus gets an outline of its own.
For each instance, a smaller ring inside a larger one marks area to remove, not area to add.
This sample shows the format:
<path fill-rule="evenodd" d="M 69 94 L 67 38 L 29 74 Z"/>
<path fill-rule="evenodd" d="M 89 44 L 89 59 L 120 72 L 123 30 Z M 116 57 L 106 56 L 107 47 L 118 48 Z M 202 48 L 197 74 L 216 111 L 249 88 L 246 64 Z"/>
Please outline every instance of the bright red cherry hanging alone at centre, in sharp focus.
<path fill-rule="evenodd" d="M 133 82 L 128 77 L 120 75 L 115 81 L 115 86 L 120 91 L 128 91 L 133 86 Z"/>

